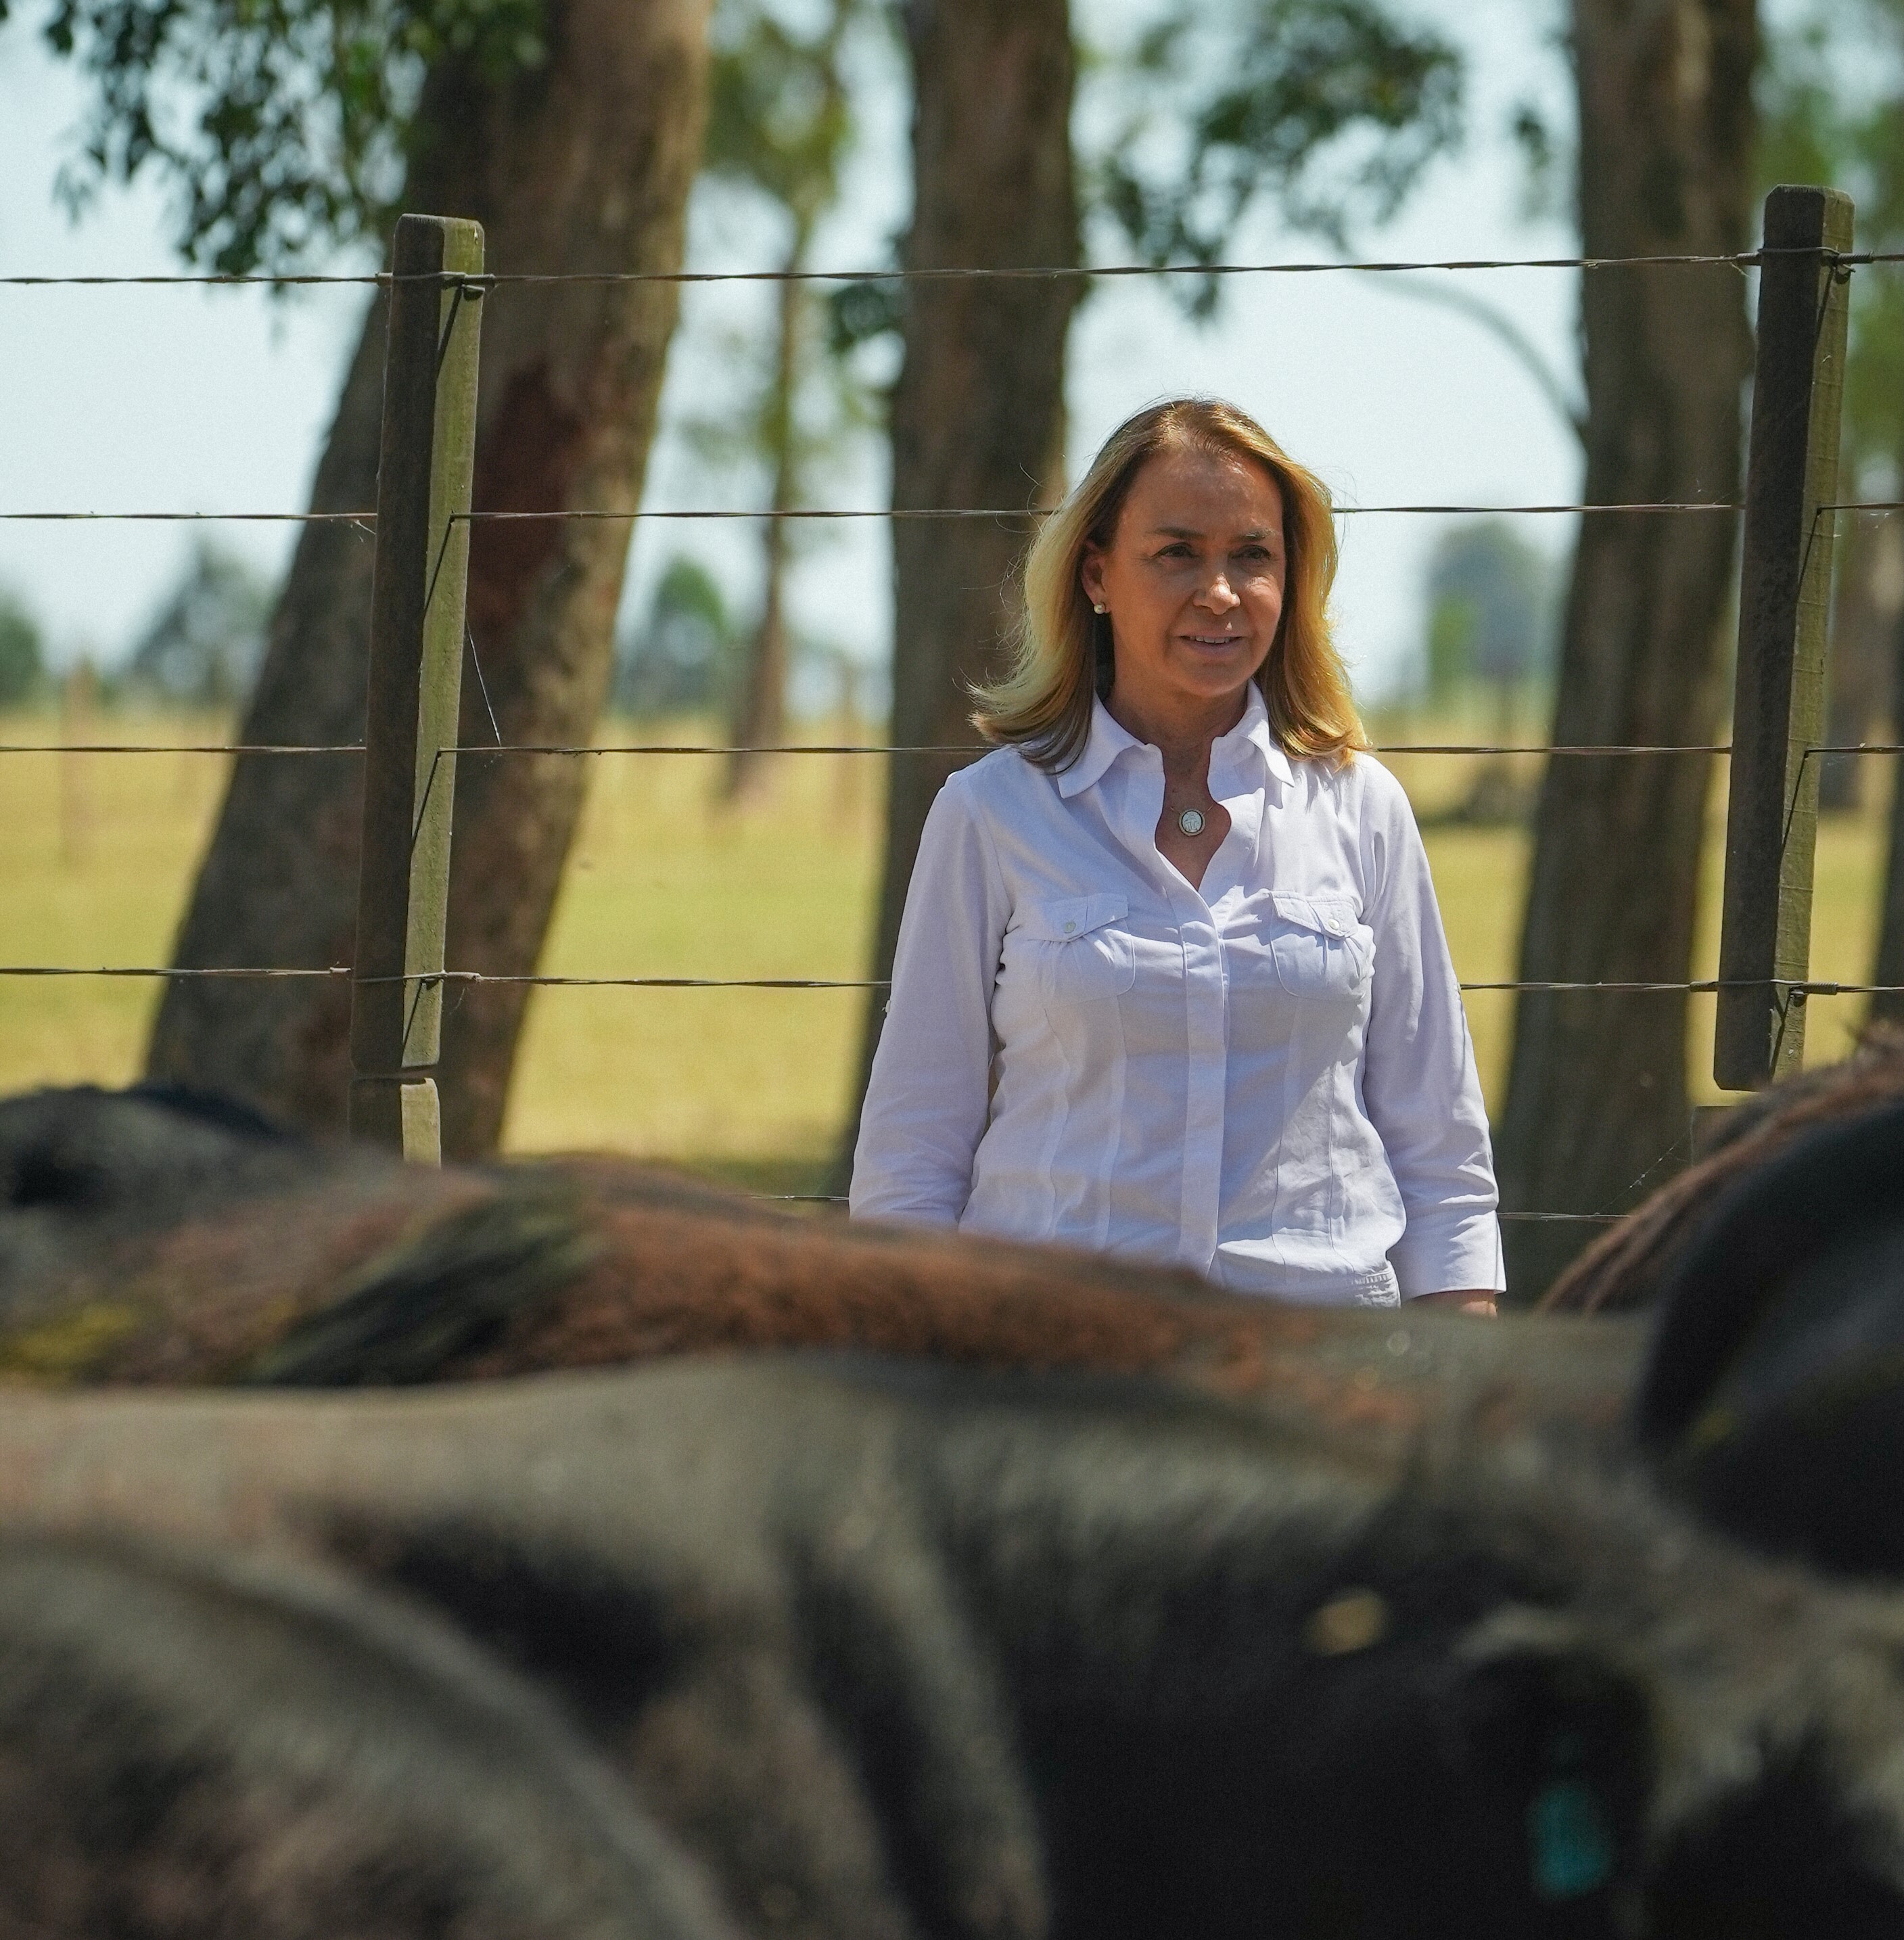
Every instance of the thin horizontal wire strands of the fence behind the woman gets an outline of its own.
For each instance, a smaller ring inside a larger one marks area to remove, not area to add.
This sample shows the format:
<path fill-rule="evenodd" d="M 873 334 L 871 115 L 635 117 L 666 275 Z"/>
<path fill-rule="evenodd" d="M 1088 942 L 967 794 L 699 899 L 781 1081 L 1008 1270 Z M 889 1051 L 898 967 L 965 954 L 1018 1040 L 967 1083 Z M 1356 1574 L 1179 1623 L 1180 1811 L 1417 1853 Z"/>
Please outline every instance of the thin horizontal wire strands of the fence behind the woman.
<path fill-rule="evenodd" d="M 0 275 L 0 287 L 10 289 L 116 289 L 116 287 L 233 287 L 254 285 L 266 289 L 293 287 L 382 287 L 394 289 L 405 281 L 458 283 L 471 295 L 491 295 L 516 287 L 543 285 L 626 285 L 626 283 L 814 283 L 814 285 L 855 285 L 855 283 L 969 283 L 969 281 L 1097 281 L 1128 277 L 1253 277 L 1253 275 L 1332 275 L 1332 274 L 1483 274 L 1483 272 L 1625 272 L 1625 270 L 1683 270 L 1683 268 L 1731 268 L 1739 274 L 1764 268 L 1780 256 L 1819 256 L 1832 266 L 1838 279 L 1848 279 L 1854 270 L 1867 266 L 1888 266 L 1904 262 L 1904 252 L 1885 250 L 1774 250 L 1759 248 L 1733 254 L 1664 254 L 1664 256 L 1526 256 L 1526 258 L 1444 258 L 1444 260 L 1363 260 L 1363 262 L 1210 262 L 1210 264 L 1115 264 L 1115 266 L 1022 266 L 1022 268 L 874 268 L 874 270 L 681 270 L 681 272 L 605 272 L 605 274 L 485 274 L 454 275 L 432 274 L 423 277 L 382 274 L 363 275 Z M 599 506 L 599 508 L 555 508 L 555 510 L 471 510 L 454 514 L 454 520 L 469 526 L 516 524 L 516 522 L 971 522 L 991 520 L 1000 524 L 1028 524 L 1045 516 L 1043 506 L 795 506 L 795 508 L 655 508 L 655 506 Z M 1826 514 L 1894 514 L 1904 510 L 1904 501 L 1840 501 L 1815 508 L 1813 532 Z M 1450 518 L 1450 516 L 1524 516 L 1524 518 L 1602 518 L 1602 516 L 1729 516 L 1745 512 L 1735 501 L 1634 501 L 1634 502 L 1526 502 L 1526 504 L 1483 504 L 1483 502 L 1394 502 L 1394 504 L 1338 504 L 1338 518 Z M 109 510 L 109 508 L 16 508 L 0 510 L 0 524 L 293 524 L 293 526 L 345 526 L 363 537 L 374 539 L 376 510 L 306 510 L 306 512 L 258 512 L 258 510 Z M 469 640 L 475 660 L 475 640 Z M 481 681 L 481 662 L 475 660 Z M 483 687 L 487 702 L 487 683 Z M 494 714 L 491 714 L 494 724 Z M 725 745 L 725 743 L 675 743 L 675 741 L 626 741 L 626 743 L 504 743 L 500 731 L 494 743 L 463 747 L 444 747 L 436 753 L 436 762 L 444 757 L 483 757 L 483 759 L 572 759 L 601 760 L 613 757 L 880 757 L 880 759 L 944 759 L 971 757 L 983 753 L 973 743 L 919 743 L 919 745 L 878 745 L 859 741 L 787 741 L 768 745 Z M 1640 757 L 1729 757 L 1731 743 L 1594 743 L 1594 745 L 1547 745 L 1530 741 L 1394 741 L 1377 743 L 1373 753 L 1392 757 L 1538 757 L 1553 759 L 1640 759 Z M 1904 743 L 1819 743 L 1803 749 L 1801 760 L 1817 757 L 1865 757 L 1898 755 Z M 130 741 L 19 741 L 0 743 L 0 757 L 8 755 L 97 755 L 97 757 L 153 757 L 184 755 L 213 759 L 314 759 L 341 757 L 361 759 L 363 743 L 244 743 L 244 741 L 173 741 L 173 743 L 130 743 Z M 434 764 L 430 780 L 434 780 Z M 370 984 L 436 986 L 440 989 L 514 986 L 537 989 L 764 989 L 764 991 L 865 991 L 886 989 L 876 978 L 746 978 L 746 976 L 556 976 L 556 974 L 492 974 L 461 968 L 405 974 L 399 978 L 353 976 L 349 964 L 324 966 L 167 966 L 167 964 L 0 964 L 0 978 L 107 978 L 107 980 L 324 980 Z M 1462 982 L 1464 993 L 1547 993 L 1547 995 L 1714 995 L 1726 989 L 1762 987 L 1764 980 L 1472 980 Z M 1828 980 L 1774 980 L 1782 1001 L 1803 1003 L 1811 997 L 1873 997 L 1904 995 L 1904 986 L 1859 984 Z M 1656 1168 L 1648 1168 L 1652 1174 Z M 838 1205 L 841 1201 L 822 1193 L 768 1193 L 758 1195 L 783 1203 Z M 1617 1220 L 1619 1212 L 1508 1212 L 1505 1218 L 1530 1224 L 1572 1222 L 1605 1224 Z"/>

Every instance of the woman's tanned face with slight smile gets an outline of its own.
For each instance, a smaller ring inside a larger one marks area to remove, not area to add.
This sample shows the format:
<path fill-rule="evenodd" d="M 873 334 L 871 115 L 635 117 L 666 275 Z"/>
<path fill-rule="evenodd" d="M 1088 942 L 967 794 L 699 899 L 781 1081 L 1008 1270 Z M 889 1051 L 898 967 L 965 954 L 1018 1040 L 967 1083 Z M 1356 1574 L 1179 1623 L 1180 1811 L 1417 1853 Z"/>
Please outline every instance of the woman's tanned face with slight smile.
<path fill-rule="evenodd" d="M 1282 625 L 1282 491 L 1247 458 L 1167 450 L 1130 485 L 1084 592 L 1111 615 L 1113 691 L 1140 714 L 1241 700 Z"/>

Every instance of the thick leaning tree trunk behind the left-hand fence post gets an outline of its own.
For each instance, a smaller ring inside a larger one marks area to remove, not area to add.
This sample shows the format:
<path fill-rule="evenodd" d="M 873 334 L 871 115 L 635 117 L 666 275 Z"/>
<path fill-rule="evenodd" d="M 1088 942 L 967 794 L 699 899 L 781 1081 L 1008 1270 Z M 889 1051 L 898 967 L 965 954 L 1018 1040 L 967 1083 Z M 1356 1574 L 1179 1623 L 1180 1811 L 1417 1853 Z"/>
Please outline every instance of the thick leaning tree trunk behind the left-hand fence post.
<path fill-rule="evenodd" d="M 405 192 L 473 215 L 496 272 L 679 270 L 706 99 L 706 0 L 551 0 L 549 60 L 502 85 L 432 76 L 432 130 Z M 483 307 L 475 508 L 632 508 L 653 433 L 671 283 L 500 285 Z M 384 305 L 351 363 L 312 506 L 376 502 Z M 587 741 L 611 673 L 628 553 L 620 522 L 477 524 L 469 630 L 504 741 Z M 372 549 L 308 526 L 244 720 L 252 743 L 363 735 Z M 492 737 L 463 681 L 467 743 Z M 465 759 L 458 774 L 448 960 L 535 968 L 584 764 Z M 178 935 L 176 962 L 343 964 L 357 914 L 363 778 L 351 757 L 250 757 L 231 788 Z M 444 1017 L 444 1148 L 481 1152 L 502 1123 L 520 986 L 477 987 Z M 173 984 L 147 1067 L 341 1129 L 349 989 L 341 982 Z"/>

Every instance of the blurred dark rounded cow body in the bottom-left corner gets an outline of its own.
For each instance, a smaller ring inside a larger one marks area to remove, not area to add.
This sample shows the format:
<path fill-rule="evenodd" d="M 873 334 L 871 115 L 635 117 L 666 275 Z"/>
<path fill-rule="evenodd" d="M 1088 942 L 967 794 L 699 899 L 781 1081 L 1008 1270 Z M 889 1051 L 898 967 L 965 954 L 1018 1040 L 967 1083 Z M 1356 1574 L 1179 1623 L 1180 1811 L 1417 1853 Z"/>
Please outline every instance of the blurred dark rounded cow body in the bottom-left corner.
<path fill-rule="evenodd" d="M 0 1932 L 737 1940 L 452 1626 L 227 1542 L 0 1538 Z"/>

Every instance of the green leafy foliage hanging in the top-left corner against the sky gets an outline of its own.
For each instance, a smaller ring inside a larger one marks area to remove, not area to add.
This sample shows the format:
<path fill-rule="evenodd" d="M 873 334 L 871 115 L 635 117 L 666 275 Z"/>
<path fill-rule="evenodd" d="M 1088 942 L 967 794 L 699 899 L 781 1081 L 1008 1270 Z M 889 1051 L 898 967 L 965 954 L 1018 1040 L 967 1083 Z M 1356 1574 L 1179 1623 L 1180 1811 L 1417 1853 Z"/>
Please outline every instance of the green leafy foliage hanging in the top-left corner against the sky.
<path fill-rule="evenodd" d="M 543 0 L 54 0 L 47 43 L 93 83 L 60 192 L 157 175 L 188 262 L 295 274 L 382 237 L 432 66 L 506 78 L 541 29 Z"/>

